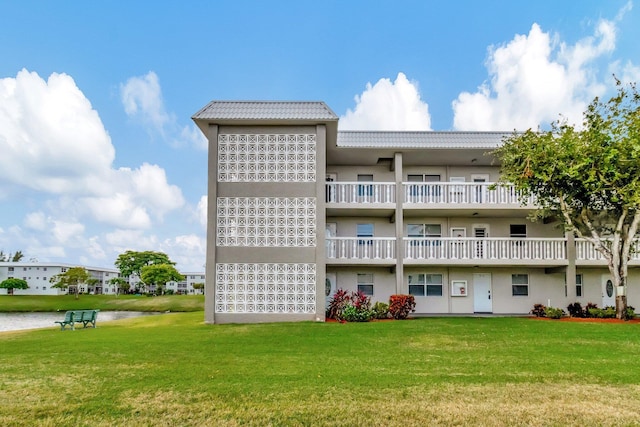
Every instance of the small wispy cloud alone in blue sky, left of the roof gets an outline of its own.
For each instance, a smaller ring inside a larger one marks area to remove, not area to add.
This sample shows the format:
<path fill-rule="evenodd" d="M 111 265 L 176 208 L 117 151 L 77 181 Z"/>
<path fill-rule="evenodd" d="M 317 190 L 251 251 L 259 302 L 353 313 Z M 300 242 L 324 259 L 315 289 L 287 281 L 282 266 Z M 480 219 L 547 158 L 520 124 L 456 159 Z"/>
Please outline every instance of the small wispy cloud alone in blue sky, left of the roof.
<path fill-rule="evenodd" d="M 140 118 L 151 130 L 163 133 L 164 127 L 174 121 L 164 108 L 160 81 L 153 71 L 121 84 L 120 99 L 127 115 Z"/>

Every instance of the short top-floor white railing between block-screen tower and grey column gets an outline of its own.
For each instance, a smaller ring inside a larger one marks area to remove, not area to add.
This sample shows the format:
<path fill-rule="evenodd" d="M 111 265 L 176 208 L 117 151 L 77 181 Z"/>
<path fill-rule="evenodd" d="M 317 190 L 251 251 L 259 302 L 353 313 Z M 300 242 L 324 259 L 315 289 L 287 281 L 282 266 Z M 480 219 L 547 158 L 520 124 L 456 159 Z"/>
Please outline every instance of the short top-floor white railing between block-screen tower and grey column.
<path fill-rule="evenodd" d="M 327 203 L 395 203 L 393 182 L 327 182 Z"/>

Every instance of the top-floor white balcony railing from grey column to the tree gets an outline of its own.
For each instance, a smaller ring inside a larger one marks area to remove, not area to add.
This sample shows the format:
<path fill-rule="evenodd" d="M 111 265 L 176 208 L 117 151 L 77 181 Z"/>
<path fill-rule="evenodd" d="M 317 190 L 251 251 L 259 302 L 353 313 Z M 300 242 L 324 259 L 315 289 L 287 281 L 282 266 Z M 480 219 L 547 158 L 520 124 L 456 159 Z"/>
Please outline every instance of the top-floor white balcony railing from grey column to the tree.
<path fill-rule="evenodd" d="M 403 182 L 406 203 L 521 205 L 513 186 L 483 182 Z M 526 201 L 533 204 L 533 199 Z"/>

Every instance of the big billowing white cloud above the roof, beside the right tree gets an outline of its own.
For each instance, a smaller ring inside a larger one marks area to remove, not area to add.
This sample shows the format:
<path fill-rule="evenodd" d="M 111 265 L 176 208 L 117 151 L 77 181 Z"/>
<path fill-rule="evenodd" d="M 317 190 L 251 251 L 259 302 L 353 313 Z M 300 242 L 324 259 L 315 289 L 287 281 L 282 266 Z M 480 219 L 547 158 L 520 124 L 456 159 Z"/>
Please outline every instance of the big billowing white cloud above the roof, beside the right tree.
<path fill-rule="evenodd" d="M 567 45 L 533 24 L 529 34 L 489 48 L 489 80 L 453 101 L 457 130 L 524 130 L 564 116 L 582 122 L 582 112 L 606 85 L 595 62 L 615 49 L 616 25 L 601 20 L 594 35 Z"/>

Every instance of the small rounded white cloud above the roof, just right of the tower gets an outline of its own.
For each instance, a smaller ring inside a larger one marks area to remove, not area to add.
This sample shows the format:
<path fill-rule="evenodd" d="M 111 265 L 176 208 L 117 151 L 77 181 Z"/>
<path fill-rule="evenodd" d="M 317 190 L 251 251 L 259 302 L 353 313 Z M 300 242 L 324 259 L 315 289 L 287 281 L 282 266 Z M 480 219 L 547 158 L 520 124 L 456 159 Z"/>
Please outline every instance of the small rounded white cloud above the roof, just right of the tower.
<path fill-rule="evenodd" d="M 403 73 L 395 82 L 367 83 L 355 101 L 355 109 L 340 117 L 341 130 L 431 130 L 429 106 L 420 98 L 417 83 Z"/>

